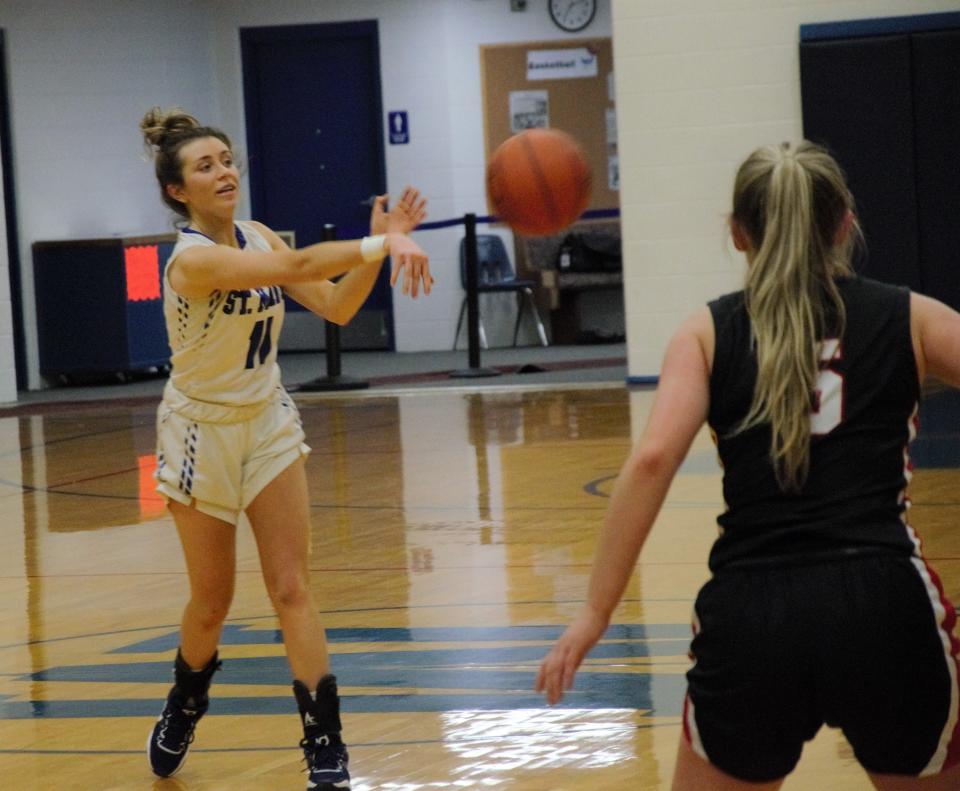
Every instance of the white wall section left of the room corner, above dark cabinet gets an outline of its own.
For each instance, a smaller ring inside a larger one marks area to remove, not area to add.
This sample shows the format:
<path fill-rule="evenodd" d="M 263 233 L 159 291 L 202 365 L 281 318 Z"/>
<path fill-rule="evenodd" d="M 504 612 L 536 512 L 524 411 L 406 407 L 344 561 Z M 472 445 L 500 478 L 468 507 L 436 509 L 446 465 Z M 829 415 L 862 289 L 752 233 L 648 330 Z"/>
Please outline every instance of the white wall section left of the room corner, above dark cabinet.
<path fill-rule="evenodd" d="M 3 0 L 28 386 L 41 386 L 31 245 L 170 229 L 137 124 L 152 104 L 209 107 L 210 22 L 192 0 Z M 0 234 L 0 401 L 15 400 Z M 83 316 L 76 317 L 83 321 Z"/>

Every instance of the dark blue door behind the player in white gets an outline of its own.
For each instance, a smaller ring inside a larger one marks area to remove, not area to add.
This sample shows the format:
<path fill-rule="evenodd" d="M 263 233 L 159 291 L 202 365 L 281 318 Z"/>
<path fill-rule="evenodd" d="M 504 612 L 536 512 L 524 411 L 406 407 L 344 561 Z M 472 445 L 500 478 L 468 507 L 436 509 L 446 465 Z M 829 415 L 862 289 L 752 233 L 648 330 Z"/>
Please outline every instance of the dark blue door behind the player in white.
<path fill-rule="evenodd" d="M 292 230 L 304 247 L 332 223 L 341 239 L 369 230 L 365 201 L 386 189 L 376 22 L 240 31 L 253 216 Z M 288 314 L 296 329 L 303 311 Z M 288 348 L 319 348 L 316 324 Z M 286 336 L 285 331 L 285 336 Z M 393 302 L 384 268 L 360 313 L 343 328 L 345 349 L 392 349 Z"/>

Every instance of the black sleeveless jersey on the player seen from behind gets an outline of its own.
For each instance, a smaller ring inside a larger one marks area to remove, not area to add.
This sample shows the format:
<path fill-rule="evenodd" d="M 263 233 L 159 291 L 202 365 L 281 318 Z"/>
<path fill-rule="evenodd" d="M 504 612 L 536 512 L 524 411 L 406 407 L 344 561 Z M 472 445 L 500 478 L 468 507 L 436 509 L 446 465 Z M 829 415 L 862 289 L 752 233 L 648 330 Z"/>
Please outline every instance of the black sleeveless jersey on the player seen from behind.
<path fill-rule="evenodd" d="M 757 377 L 743 292 L 710 303 L 716 349 L 709 424 L 723 465 L 726 511 L 710 567 L 789 562 L 837 551 L 915 553 L 907 526 L 907 455 L 917 428 L 920 386 L 910 335 L 910 292 L 866 278 L 839 282 L 843 338 L 822 344 L 810 472 L 795 493 L 781 491 L 767 425 L 740 433 Z"/>

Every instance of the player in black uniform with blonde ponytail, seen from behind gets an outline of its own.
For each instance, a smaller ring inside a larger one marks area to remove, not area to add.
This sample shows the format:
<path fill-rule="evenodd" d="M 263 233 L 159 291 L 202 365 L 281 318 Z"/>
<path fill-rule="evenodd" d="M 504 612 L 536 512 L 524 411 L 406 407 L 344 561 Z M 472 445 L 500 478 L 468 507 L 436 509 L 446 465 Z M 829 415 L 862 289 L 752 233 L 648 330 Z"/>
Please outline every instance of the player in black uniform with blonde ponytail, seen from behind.
<path fill-rule="evenodd" d="M 605 519 L 587 603 L 537 689 L 569 689 L 706 421 L 727 505 L 694 608 L 675 791 L 776 789 L 841 728 L 879 789 L 960 788 L 953 606 L 907 521 L 927 373 L 960 385 L 960 314 L 857 277 L 837 163 L 753 152 L 734 185 L 743 291 L 671 340 Z"/>

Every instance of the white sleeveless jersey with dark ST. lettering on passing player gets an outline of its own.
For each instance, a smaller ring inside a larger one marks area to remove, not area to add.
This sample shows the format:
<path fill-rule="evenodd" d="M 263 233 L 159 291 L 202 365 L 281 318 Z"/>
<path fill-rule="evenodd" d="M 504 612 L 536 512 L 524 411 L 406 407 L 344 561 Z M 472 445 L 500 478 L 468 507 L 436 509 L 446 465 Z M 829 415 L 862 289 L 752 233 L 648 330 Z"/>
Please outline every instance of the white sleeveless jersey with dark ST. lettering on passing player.
<path fill-rule="evenodd" d="M 245 250 L 270 250 L 250 223 L 236 223 Z M 279 286 L 213 291 L 183 297 L 170 285 L 170 264 L 184 250 L 216 246 L 195 231 L 180 231 L 163 275 L 163 315 L 170 339 L 171 373 L 165 399 L 182 396 L 208 404 L 259 406 L 280 386 L 277 339 L 283 324 Z"/>

